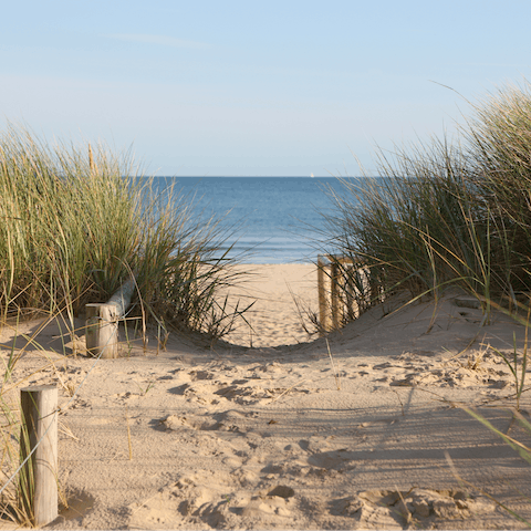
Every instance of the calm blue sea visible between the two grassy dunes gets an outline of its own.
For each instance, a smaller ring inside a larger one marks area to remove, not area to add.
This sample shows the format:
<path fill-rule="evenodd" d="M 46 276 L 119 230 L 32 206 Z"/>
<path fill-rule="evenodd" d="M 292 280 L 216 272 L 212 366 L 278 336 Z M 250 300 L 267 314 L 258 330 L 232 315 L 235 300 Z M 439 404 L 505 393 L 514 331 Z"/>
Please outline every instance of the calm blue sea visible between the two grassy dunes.
<path fill-rule="evenodd" d="M 195 195 L 197 216 L 222 217 L 227 227 L 240 226 L 231 256 L 249 251 L 247 263 L 311 262 L 317 254 L 320 212 L 332 212 L 326 188 L 342 190 L 336 178 L 313 177 L 157 177 L 159 189 L 175 183 Z M 199 200 L 200 199 L 200 200 Z"/>

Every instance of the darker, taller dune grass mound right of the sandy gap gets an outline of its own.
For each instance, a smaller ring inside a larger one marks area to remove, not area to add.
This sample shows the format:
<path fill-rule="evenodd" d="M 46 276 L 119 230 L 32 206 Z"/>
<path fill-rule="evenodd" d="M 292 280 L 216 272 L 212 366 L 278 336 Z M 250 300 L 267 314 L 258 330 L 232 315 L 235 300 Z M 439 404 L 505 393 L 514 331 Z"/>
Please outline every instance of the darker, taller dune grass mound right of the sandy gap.
<path fill-rule="evenodd" d="M 518 308 L 529 293 L 530 85 L 507 86 L 472 111 L 457 142 L 381 152 L 379 177 L 344 179 L 331 194 L 326 252 L 364 268 L 365 288 L 355 287 L 372 301 L 364 308 L 397 291 L 416 299 L 458 285 L 488 322 L 491 301 Z"/>

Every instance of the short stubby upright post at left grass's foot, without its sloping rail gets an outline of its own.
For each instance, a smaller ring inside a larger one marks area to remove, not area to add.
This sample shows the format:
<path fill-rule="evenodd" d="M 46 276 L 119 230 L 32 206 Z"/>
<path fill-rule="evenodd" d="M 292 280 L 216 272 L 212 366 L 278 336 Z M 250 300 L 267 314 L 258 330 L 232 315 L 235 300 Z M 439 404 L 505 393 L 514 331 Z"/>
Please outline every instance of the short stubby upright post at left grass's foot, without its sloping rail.
<path fill-rule="evenodd" d="M 86 350 L 104 360 L 118 357 L 118 315 L 115 304 L 92 303 L 86 310 Z"/>

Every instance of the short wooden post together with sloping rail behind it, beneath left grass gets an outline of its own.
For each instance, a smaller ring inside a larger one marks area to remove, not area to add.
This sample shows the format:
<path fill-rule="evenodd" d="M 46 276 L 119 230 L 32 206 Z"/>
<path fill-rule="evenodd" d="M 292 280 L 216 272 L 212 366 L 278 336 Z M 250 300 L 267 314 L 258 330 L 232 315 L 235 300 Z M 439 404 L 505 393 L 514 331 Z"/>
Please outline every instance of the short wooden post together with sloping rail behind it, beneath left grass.
<path fill-rule="evenodd" d="M 125 316 L 135 285 L 129 279 L 106 303 L 85 305 L 86 350 L 93 356 L 118 357 L 118 320 Z"/>

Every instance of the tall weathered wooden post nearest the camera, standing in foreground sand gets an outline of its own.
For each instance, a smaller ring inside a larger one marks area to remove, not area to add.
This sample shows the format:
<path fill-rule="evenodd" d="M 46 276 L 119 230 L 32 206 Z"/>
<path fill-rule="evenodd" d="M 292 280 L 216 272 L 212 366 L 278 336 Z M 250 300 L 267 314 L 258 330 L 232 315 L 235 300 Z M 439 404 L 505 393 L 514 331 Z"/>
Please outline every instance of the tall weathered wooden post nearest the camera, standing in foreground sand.
<path fill-rule="evenodd" d="M 20 402 L 21 461 L 39 446 L 21 469 L 19 500 L 33 525 L 46 525 L 58 518 L 58 389 L 54 385 L 27 387 Z"/>

